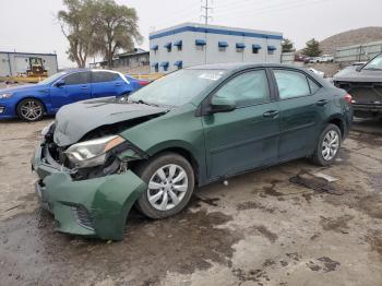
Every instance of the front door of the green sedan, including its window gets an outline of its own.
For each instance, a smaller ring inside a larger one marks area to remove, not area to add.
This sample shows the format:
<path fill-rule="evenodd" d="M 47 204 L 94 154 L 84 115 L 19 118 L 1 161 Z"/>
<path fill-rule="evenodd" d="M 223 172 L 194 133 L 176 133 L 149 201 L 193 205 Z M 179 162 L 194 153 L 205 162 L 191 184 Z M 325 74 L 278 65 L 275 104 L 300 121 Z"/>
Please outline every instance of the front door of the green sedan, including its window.
<path fill-rule="evenodd" d="M 202 118 L 208 178 L 231 176 L 277 162 L 279 107 L 265 69 L 235 75 L 213 96 L 236 103 L 236 109 Z"/>

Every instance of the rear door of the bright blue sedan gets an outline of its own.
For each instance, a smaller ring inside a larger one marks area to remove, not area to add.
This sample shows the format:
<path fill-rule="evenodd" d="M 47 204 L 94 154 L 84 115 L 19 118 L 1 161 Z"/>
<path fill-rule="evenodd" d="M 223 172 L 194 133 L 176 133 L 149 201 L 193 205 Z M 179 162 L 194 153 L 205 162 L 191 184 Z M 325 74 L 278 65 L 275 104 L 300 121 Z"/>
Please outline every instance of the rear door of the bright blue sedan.
<path fill-rule="evenodd" d="M 120 96 L 127 93 L 127 82 L 119 73 L 92 71 L 93 97 Z"/>

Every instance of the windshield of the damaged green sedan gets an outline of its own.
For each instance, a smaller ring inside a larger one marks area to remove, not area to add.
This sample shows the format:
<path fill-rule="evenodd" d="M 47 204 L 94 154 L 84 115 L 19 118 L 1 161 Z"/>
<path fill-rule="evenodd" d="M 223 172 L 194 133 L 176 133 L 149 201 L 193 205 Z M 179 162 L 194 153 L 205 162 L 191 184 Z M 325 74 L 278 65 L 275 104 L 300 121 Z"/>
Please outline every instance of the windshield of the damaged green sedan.
<path fill-rule="evenodd" d="M 224 70 L 180 70 L 170 73 L 129 96 L 130 102 L 181 106 L 220 79 Z"/>

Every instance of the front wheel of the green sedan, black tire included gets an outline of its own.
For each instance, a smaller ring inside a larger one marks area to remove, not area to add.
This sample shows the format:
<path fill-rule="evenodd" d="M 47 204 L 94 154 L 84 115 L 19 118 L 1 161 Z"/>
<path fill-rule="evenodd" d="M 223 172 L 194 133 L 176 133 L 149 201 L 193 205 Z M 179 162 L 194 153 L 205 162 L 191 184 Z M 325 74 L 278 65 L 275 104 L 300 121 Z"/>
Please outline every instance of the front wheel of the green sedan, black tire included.
<path fill-rule="evenodd" d="M 191 164 L 176 153 L 153 157 L 138 166 L 136 175 L 147 183 L 147 190 L 138 200 L 138 210 L 147 217 L 172 216 L 182 211 L 191 199 L 194 172 Z"/>

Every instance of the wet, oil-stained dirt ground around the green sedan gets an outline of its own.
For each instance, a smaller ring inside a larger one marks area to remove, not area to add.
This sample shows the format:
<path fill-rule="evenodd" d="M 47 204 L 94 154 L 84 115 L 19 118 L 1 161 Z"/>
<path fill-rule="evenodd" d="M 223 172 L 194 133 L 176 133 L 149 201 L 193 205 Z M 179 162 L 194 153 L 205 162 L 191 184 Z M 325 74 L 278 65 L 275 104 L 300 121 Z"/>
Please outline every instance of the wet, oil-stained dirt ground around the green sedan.
<path fill-rule="evenodd" d="M 133 213 L 110 243 L 56 234 L 38 208 L 29 158 L 51 120 L 0 122 L 1 285 L 382 285 L 381 122 L 357 124 L 333 167 L 301 159 L 211 184 L 176 217 Z M 301 170 L 344 194 L 289 182 Z"/>

